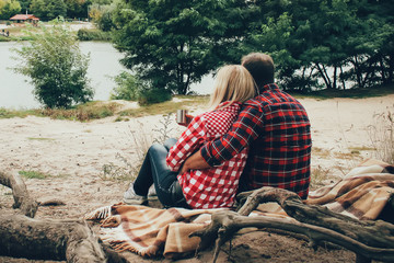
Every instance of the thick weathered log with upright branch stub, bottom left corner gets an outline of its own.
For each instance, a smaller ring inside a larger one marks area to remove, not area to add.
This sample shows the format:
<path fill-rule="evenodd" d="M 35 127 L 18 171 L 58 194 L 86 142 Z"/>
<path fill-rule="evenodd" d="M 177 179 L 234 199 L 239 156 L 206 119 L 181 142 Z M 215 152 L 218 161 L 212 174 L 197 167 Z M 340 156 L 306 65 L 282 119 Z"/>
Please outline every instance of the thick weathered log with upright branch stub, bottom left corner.
<path fill-rule="evenodd" d="M 34 219 L 38 203 L 19 174 L 0 172 L 0 183 L 12 188 L 18 215 L 0 215 L 0 255 L 67 262 L 126 262 L 102 244 L 83 220 Z M 22 214 L 22 215 L 21 215 Z"/>

